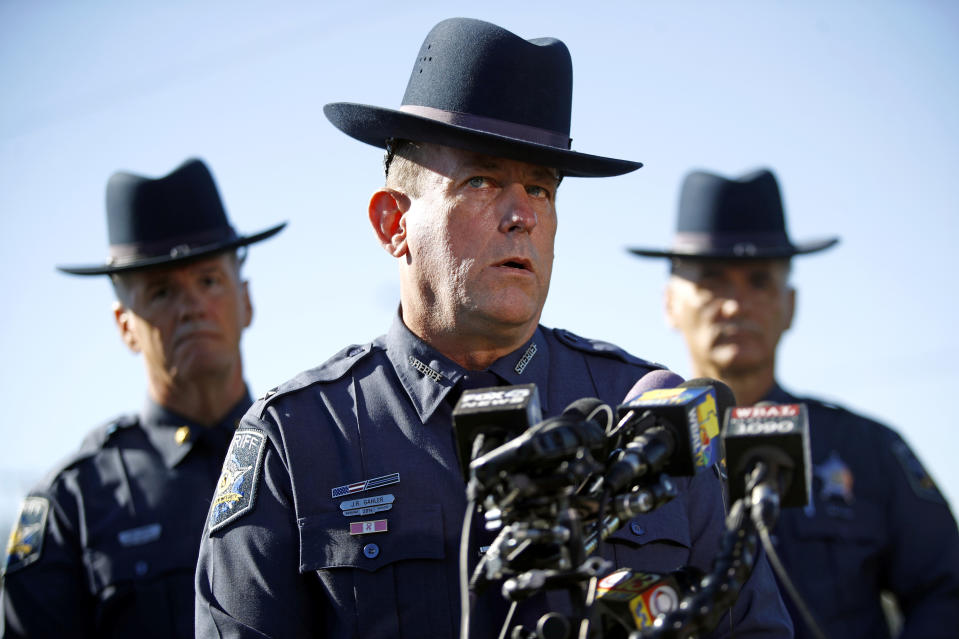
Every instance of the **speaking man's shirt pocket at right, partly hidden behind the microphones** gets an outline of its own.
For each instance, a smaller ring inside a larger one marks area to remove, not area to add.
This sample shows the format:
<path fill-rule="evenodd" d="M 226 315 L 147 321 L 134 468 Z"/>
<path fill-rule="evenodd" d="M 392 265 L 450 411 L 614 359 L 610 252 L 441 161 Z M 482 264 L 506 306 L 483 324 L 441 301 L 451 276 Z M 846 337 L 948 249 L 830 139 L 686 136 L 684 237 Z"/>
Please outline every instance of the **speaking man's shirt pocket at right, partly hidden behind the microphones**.
<path fill-rule="evenodd" d="M 604 556 L 617 568 L 666 573 L 689 563 L 689 517 L 678 498 L 645 515 L 633 517 L 605 541 Z"/>

